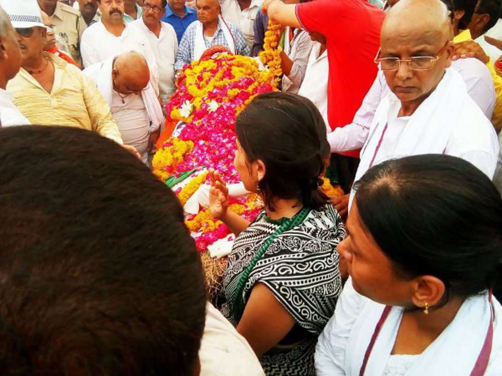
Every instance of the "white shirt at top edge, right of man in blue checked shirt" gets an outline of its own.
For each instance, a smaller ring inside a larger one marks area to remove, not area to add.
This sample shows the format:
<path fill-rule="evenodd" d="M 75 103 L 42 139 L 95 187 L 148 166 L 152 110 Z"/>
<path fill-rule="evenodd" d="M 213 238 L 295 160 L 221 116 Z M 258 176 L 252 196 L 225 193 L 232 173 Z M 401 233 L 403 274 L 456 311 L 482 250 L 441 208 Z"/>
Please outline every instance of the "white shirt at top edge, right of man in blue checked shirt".
<path fill-rule="evenodd" d="M 221 0 L 221 15 L 226 22 L 229 22 L 240 29 L 249 45 L 253 47 L 255 41 L 255 20 L 258 10 L 263 4 L 263 0 L 252 0 L 249 8 L 240 9 L 237 0 Z"/>

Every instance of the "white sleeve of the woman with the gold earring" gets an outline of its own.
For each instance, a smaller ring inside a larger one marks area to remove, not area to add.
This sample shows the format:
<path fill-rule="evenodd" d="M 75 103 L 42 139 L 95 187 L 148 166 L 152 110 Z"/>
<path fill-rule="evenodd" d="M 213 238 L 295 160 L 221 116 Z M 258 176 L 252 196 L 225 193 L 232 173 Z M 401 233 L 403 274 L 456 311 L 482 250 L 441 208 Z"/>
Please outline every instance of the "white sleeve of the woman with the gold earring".
<path fill-rule="evenodd" d="M 345 349 L 352 326 L 362 308 L 363 299 L 365 298 L 352 287 L 352 279 L 349 277 L 336 304 L 335 314 L 317 340 L 317 376 L 345 375 Z"/>

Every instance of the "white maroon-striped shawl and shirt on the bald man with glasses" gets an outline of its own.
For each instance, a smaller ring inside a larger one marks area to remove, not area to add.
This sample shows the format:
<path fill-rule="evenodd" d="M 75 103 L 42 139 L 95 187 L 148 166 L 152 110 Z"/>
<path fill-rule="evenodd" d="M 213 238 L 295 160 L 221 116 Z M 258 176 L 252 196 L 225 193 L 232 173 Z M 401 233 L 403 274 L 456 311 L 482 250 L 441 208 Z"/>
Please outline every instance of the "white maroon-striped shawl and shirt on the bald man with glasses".
<path fill-rule="evenodd" d="M 373 158 L 376 165 L 392 158 L 430 153 L 463 158 L 490 179 L 493 177 L 498 156 L 496 133 L 468 95 L 458 72 L 447 69 L 436 89 L 413 115 L 397 117 L 400 109 L 401 102 L 393 93 L 380 102 L 361 149 L 355 181 L 370 168 Z M 388 130 L 382 138 L 386 124 Z M 375 154 L 379 143 L 381 147 Z"/>

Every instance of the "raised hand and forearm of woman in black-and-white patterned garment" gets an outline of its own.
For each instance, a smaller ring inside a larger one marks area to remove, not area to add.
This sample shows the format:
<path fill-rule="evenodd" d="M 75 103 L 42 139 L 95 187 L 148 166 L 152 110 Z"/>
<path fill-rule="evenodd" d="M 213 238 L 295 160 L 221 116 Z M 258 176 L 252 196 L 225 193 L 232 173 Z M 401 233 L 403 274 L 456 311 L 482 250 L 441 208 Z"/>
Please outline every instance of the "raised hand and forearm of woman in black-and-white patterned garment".
<path fill-rule="evenodd" d="M 214 218 L 223 222 L 232 233 L 239 235 L 247 229 L 249 222 L 238 214 L 228 210 L 228 188 L 220 174 L 214 169 L 209 169 L 209 210 Z"/>

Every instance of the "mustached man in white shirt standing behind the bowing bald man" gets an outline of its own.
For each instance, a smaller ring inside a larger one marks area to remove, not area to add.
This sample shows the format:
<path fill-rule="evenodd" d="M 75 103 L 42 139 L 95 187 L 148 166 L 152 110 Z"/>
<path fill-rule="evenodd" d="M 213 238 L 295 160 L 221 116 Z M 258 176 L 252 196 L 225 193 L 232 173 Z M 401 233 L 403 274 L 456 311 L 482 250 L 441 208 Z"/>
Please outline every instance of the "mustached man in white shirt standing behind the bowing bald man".
<path fill-rule="evenodd" d="M 155 55 L 143 32 L 123 21 L 123 0 L 97 0 L 101 20 L 89 26 L 82 35 L 82 60 L 84 67 L 100 63 L 128 51 L 142 54 L 148 61 L 151 82 L 159 94 L 159 71 Z"/>

